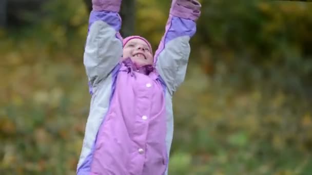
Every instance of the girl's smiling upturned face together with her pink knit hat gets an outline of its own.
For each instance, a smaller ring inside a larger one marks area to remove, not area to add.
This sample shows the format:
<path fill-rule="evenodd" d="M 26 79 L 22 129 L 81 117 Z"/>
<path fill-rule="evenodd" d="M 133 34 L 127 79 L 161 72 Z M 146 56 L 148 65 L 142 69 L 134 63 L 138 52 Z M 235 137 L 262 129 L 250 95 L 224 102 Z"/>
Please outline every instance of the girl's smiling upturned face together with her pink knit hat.
<path fill-rule="evenodd" d="M 140 38 L 129 40 L 124 46 L 123 58 L 131 58 L 137 67 L 153 64 L 153 55 L 147 43 Z"/>

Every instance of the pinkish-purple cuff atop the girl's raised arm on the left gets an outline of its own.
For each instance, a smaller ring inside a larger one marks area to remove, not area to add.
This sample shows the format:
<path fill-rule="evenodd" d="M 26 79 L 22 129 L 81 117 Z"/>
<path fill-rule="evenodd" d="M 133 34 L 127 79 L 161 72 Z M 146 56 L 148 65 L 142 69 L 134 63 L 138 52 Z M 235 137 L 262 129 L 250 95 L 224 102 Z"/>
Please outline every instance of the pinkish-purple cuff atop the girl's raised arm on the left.
<path fill-rule="evenodd" d="M 92 8 L 95 11 L 119 12 L 122 0 L 92 0 Z"/>

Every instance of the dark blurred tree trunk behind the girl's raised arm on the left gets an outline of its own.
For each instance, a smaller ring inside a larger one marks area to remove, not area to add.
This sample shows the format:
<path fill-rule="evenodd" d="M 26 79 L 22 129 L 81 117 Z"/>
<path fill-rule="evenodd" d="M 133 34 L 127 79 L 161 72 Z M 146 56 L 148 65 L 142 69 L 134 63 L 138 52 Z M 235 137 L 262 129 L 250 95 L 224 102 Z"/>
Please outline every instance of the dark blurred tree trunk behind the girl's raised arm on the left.
<path fill-rule="evenodd" d="M 91 0 L 84 0 L 89 12 L 92 10 Z M 127 37 L 133 34 L 135 20 L 135 0 L 123 1 L 120 12 L 123 20 L 121 35 Z"/>

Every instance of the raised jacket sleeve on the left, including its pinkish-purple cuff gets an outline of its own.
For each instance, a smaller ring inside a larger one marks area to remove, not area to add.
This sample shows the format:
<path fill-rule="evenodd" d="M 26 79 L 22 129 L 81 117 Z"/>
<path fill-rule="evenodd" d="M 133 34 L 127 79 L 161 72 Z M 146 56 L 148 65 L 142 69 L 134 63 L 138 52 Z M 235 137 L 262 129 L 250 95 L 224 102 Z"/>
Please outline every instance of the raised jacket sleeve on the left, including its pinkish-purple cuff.
<path fill-rule="evenodd" d="M 90 86 L 106 78 L 122 57 L 121 0 L 92 0 L 84 65 Z"/>

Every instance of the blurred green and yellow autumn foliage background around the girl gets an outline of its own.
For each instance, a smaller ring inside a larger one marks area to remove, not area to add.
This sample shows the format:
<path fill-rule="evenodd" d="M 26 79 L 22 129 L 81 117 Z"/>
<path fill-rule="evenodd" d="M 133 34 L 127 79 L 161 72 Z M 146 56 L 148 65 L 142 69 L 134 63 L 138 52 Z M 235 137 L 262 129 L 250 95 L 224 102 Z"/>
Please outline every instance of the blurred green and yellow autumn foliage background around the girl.
<path fill-rule="evenodd" d="M 82 0 L 32 0 L 29 9 L 5 1 L 0 174 L 75 174 L 90 102 L 88 8 Z M 173 100 L 169 174 L 312 174 L 312 3 L 201 3 Z M 133 34 L 153 50 L 169 7 L 137 0 L 127 9 Z"/>

